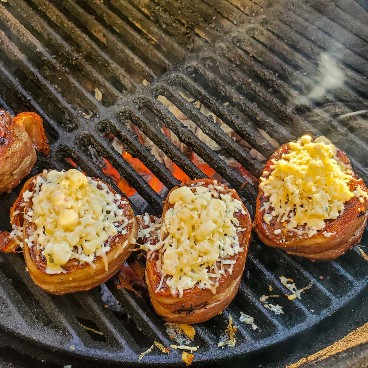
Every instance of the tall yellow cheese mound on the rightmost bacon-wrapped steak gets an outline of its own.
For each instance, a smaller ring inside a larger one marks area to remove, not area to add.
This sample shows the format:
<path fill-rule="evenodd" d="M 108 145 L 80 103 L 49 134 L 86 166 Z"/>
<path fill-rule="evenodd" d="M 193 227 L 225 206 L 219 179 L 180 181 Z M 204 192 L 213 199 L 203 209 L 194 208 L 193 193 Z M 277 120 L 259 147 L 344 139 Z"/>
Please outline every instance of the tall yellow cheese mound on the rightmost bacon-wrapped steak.
<path fill-rule="evenodd" d="M 272 162 L 273 171 L 267 178 L 261 177 L 259 184 L 269 197 L 261 208 L 265 209 L 263 219 L 268 224 L 277 216 L 284 230 L 310 237 L 325 227 L 324 220 L 337 219 L 344 203 L 354 195 L 360 202 L 368 198 L 359 185 L 354 192 L 349 190 L 353 173 L 337 158 L 336 146 L 323 136 L 312 142 L 311 136 L 304 135 L 290 142 L 289 152 Z M 305 229 L 298 229 L 300 225 Z"/>

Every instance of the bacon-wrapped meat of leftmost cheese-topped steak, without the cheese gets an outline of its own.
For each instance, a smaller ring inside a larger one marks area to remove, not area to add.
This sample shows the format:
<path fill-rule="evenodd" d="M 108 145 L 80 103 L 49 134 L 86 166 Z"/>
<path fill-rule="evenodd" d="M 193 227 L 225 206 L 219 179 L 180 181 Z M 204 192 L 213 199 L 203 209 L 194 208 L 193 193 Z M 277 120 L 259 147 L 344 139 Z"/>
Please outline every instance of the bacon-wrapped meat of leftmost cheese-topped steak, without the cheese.
<path fill-rule="evenodd" d="M 33 183 L 33 179 L 35 179 L 37 176 L 45 177 L 45 174 L 40 173 L 25 183 L 17 201 L 14 203 L 11 209 L 11 217 L 16 210 L 21 210 L 24 211 L 24 213 L 27 213 L 32 209 L 31 200 L 27 201 L 25 206 L 21 205 L 24 203 L 23 193 L 26 190 L 31 192 L 34 190 L 35 184 Z M 98 178 L 92 179 L 100 183 L 104 183 Z M 114 195 L 117 194 L 109 184 L 106 185 Z M 74 291 L 92 289 L 93 287 L 104 283 L 110 277 L 112 277 L 125 262 L 125 259 L 130 256 L 132 249 L 135 247 L 135 241 L 133 241 L 133 238 L 135 239 L 137 237 L 138 232 L 137 222 L 130 204 L 128 202 L 125 204 L 119 204 L 118 208 L 123 210 L 124 216 L 128 220 L 131 220 L 131 222 L 128 223 L 127 227 L 125 228 L 127 230 L 127 234 L 118 233 L 108 241 L 108 244 L 106 244 L 110 246 L 110 251 L 106 252 L 107 264 L 109 266 L 107 271 L 105 269 L 105 263 L 103 262 L 102 257 L 97 256 L 93 261 L 95 267 L 92 267 L 89 263 L 79 264 L 77 260 L 70 259 L 66 265 L 62 266 L 62 268 L 66 270 L 66 273 L 49 275 L 45 272 L 47 265 L 46 258 L 40 254 L 40 250 L 36 249 L 36 244 L 33 243 L 32 247 L 28 247 L 28 245 L 24 242 L 24 259 L 29 275 L 31 275 L 35 284 L 49 293 L 60 295 Z M 13 223 L 21 226 L 23 225 L 23 239 L 29 238 L 29 236 L 32 234 L 32 227 L 34 224 L 26 219 L 23 219 L 23 212 L 14 216 Z M 3 236 L 3 238 L 5 238 L 5 236 Z M 125 241 L 128 241 L 128 244 L 125 248 L 122 248 L 122 245 L 125 243 Z M 9 239 L 6 239 L 6 241 L 1 244 L 0 238 L 1 251 L 14 252 L 17 247 L 18 244 Z"/>

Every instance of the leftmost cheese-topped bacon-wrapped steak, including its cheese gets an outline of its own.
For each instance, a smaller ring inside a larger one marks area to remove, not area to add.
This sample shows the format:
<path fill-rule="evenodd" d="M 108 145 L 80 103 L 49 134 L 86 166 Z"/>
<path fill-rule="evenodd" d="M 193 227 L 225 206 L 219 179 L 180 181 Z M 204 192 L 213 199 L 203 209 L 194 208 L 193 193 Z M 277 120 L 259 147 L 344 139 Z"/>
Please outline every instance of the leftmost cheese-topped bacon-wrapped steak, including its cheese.
<path fill-rule="evenodd" d="M 75 169 L 30 178 L 10 216 L 13 231 L 0 233 L 0 251 L 23 248 L 29 275 L 52 294 L 108 280 L 130 256 L 138 231 L 126 199 Z"/>

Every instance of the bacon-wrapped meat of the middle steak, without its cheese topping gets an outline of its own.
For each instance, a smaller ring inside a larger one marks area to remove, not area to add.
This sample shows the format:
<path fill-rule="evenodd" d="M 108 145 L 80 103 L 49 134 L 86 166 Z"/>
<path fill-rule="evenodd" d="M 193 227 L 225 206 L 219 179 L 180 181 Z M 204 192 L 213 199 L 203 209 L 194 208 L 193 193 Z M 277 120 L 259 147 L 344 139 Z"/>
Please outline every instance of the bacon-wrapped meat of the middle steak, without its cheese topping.
<path fill-rule="evenodd" d="M 189 181 L 183 185 L 191 187 L 191 184 L 199 182 L 204 182 L 204 184 L 202 184 L 204 187 L 207 187 L 209 184 L 213 184 L 213 180 L 211 179 L 197 179 Z M 166 211 L 173 206 L 169 202 L 169 196 L 170 193 L 177 188 L 178 187 L 173 188 L 167 194 L 166 200 L 164 201 L 162 218 L 165 217 Z M 226 186 L 224 186 L 224 189 L 228 190 Z M 235 191 L 232 190 L 231 194 L 234 199 L 241 201 Z M 245 229 L 244 231 L 238 232 L 239 245 L 244 249 L 244 251 L 230 258 L 236 259 L 233 272 L 231 275 L 229 272 L 226 272 L 226 274 L 220 278 L 216 294 L 213 294 L 210 289 L 200 289 L 195 286 L 192 289 L 184 290 L 183 297 L 178 298 L 171 295 L 171 291 L 169 287 L 167 287 L 166 282 L 163 282 L 162 287 L 156 293 L 155 290 L 158 288 L 161 279 L 161 273 L 156 264 L 159 251 L 148 254 L 146 261 L 146 283 L 149 295 L 151 296 L 153 308 L 155 308 L 156 312 L 165 321 L 174 323 L 204 322 L 222 312 L 223 309 L 226 308 L 233 300 L 238 291 L 241 276 L 244 271 L 251 233 L 251 218 L 244 205 L 243 208 L 245 210 L 245 215 L 238 212 L 234 217 L 237 217 L 239 220 L 239 226 L 242 229 Z M 153 238 L 152 241 L 157 242 L 157 238 Z"/>

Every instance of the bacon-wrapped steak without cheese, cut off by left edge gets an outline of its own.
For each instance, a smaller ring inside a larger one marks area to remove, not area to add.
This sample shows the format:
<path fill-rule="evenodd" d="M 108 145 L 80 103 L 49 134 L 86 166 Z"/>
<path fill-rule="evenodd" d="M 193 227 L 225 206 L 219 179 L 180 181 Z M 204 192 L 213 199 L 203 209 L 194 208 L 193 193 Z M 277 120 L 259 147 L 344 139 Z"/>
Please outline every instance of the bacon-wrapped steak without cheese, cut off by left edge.
<path fill-rule="evenodd" d="M 36 151 L 50 153 L 42 118 L 24 112 L 12 117 L 0 109 L 0 194 L 9 192 L 32 170 Z"/>

